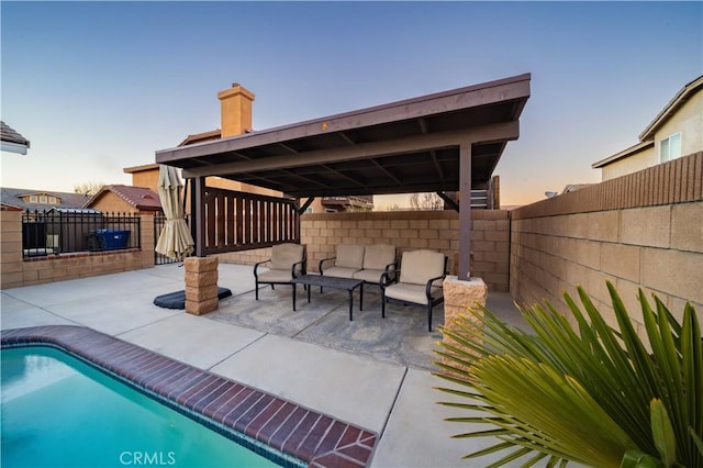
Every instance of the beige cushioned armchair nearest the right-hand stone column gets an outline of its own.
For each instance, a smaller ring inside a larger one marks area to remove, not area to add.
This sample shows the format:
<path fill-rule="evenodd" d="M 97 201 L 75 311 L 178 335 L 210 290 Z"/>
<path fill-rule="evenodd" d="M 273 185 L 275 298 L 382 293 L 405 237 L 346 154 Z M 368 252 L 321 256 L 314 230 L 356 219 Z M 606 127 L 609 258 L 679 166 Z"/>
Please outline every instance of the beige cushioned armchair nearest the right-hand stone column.
<path fill-rule="evenodd" d="M 442 281 L 447 271 L 447 257 L 439 252 L 413 250 L 403 253 L 400 270 L 381 275 L 381 316 L 386 317 L 386 302 L 417 304 L 427 309 L 427 331 L 432 332 L 432 309 L 444 302 Z M 391 276 L 400 272 L 397 283 Z"/>

